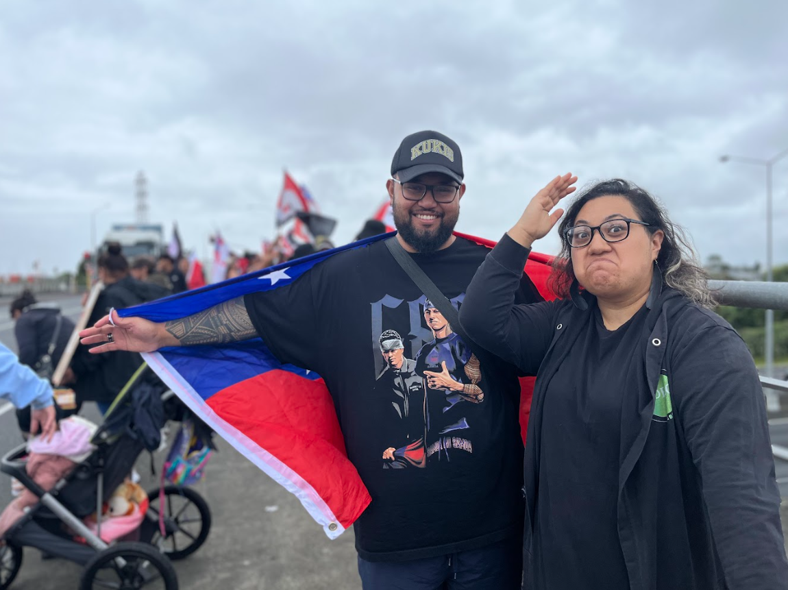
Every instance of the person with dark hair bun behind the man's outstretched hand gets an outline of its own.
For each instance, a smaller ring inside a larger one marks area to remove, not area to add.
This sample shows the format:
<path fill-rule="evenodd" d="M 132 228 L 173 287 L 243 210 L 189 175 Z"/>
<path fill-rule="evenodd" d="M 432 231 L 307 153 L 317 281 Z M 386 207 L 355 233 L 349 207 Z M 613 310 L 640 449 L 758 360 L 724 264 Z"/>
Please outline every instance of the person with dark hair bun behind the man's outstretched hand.
<path fill-rule="evenodd" d="M 143 283 L 130 275 L 128 261 L 118 243 L 110 243 L 106 252 L 99 257 L 99 280 L 105 284 L 105 288 L 96 300 L 88 325 L 99 321 L 113 307 L 122 309 L 169 295 L 164 288 Z M 78 347 L 71 362 L 71 369 L 76 376 L 74 389 L 77 403 L 93 401 L 101 413 L 106 414 L 113 399 L 142 362 L 142 357 L 136 352 L 89 354 L 87 347 Z"/>

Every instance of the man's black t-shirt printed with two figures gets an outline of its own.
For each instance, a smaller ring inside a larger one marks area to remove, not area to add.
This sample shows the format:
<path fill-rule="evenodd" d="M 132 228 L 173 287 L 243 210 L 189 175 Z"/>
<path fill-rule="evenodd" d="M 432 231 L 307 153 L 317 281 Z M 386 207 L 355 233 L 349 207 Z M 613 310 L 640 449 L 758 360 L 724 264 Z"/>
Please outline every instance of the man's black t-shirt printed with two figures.
<path fill-rule="evenodd" d="M 489 250 L 457 238 L 411 254 L 459 308 Z M 523 277 L 518 302 L 540 300 Z M 516 369 L 481 359 L 376 242 L 246 296 L 284 362 L 319 373 L 372 503 L 355 523 L 371 561 L 444 555 L 522 532 Z"/>

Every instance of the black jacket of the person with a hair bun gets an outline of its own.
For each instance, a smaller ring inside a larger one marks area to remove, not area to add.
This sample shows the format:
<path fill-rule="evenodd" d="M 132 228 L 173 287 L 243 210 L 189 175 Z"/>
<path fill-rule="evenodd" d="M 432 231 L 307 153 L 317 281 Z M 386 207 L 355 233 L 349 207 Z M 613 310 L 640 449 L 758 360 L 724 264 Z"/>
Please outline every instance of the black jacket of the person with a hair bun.
<path fill-rule="evenodd" d="M 165 295 L 169 293 L 158 285 L 125 276 L 104 288 L 96 300 L 87 325 L 94 325 L 109 314 L 113 307 L 120 310 Z M 77 347 L 71 362 L 71 368 L 76 374 L 74 390 L 77 401 L 112 402 L 142 362 L 142 357 L 136 352 L 90 354 L 88 347 Z"/>

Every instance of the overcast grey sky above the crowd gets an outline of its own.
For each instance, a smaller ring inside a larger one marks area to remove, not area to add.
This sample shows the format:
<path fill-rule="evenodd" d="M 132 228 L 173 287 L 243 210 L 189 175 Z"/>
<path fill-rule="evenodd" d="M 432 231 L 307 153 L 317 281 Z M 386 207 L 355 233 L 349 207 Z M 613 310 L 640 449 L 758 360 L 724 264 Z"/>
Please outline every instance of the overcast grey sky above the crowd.
<path fill-rule="evenodd" d="M 138 170 L 200 256 L 274 236 L 285 168 L 345 243 L 425 128 L 462 148 L 460 231 L 498 239 L 556 174 L 621 176 L 702 260 L 762 263 L 765 168 L 719 155 L 788 149 L 788 2 L 644 4 L 0 0 L 0 275 L 74 269 L 91 217 L 134 220 Z M 786 226 L 788 158 L 775 264 Z"/>

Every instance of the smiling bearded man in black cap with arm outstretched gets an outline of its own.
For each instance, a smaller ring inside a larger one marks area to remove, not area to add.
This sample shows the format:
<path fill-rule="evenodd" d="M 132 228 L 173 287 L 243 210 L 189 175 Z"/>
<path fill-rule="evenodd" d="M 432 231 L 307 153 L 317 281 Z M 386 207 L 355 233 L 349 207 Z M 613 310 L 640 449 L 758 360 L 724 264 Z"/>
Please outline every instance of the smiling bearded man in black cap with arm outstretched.
<path fill-rule="evenodd" d="M 459 147 L 434 131 L 408 135 L 394 154 L 391 174 L 386 187 L 396 239 L 452 304 L 461 305 L 489 249 L 452 234 L 466 191 Z M 521 285 L 516 302 L 541 300 L 526 276 Z M 109 345 L 109 328 L 83 336 L 84 343 L 103 343 L 105 351 L 262 337 L 281 362 L 323 377 L 333 396 L 348 458 L 372 496 L 354 523 L 363 588 L 519 588 L 522 442 L 513 366 L 487 354 L 481 368 L 475 367 L 467 354 L 473 377 L 463 384 L 468 395 L 452 399 L 466 424 L 461 434 L 440 429 L 433 443 L 452 452 L 430 462 L 424 442 L 416 440 L 409 449 L 412 461 L 403 468 L 381 465 L 381 432 L 396 417 L 373 398 L 376 377 L 388 362 L 379 337 L 383 326 L 407 335 L 402 354 L 414 358 L 437 339 L 426 324 L 425 305 L 425 295 L 377 241 L 326 258 L 284 287 L 189 317 L 158 325 L 113 318 Z M 468 343 L 452 346 L 470 351 Z M 426 351 L 425 367 L 436 370 L 423 377 L 437 386 L 443 365 L 433 364 L 437 357 L 427 352 L 440 356 L 440 347 Z M 477 390 L 483 396 L 474 395 Z"/>

